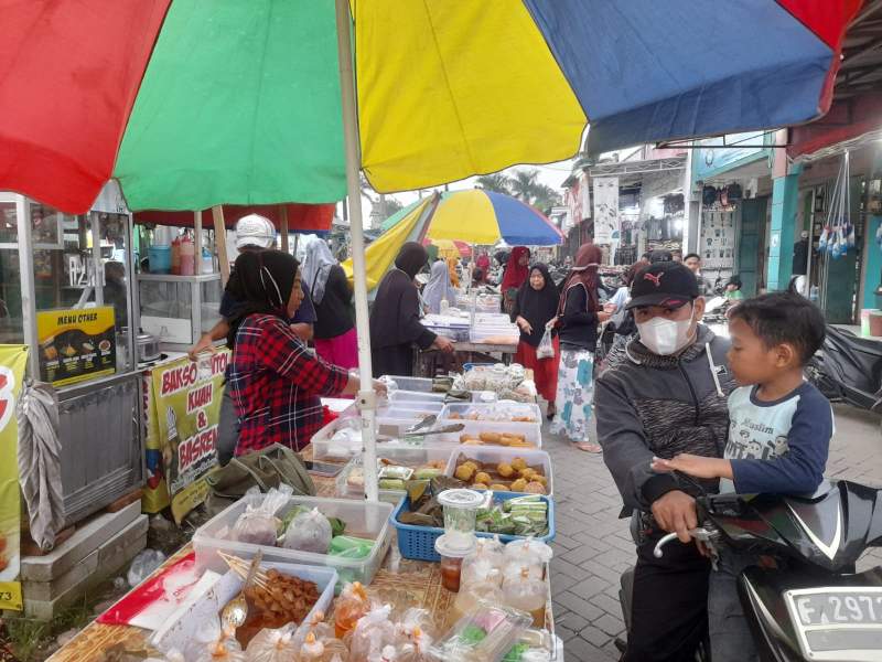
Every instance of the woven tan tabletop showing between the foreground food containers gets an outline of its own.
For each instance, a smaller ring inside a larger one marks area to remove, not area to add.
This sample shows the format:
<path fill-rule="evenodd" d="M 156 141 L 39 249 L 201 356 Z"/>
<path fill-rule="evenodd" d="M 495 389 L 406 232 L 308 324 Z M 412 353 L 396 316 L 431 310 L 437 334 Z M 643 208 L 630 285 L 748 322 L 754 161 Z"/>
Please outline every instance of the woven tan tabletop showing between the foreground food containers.
<path fill-rule="evenodd" d="M 304 459 L 312 458 L 312 449 L 303 451 Z M 316 494 L 319 496 L 335 495 L 335 479 L 313 476 Z M 392 530 L 392 535 L 395 531 Z M 161 573 L 165 567 L 176 563 L 193 551 L 193 545 L 187 544 L 176 554 L 172 555 L 154 573 Z M 374 580 L 370 583 L 369 592 L 388 596 L 397 604 L 407 600 L 415 607 L 428 609 L 434 617 L 437 628 L 443 632 L 447 627 L 448 611 L 453 605 L 456 594 L 452 594 L 441 585 L 441 565 L 421 560 L 408 560 L 397 555 L 397 542 L 392 540 L 390 553 L 384 560 Z M 392 567 L 397 565 L 397 568 Z M 149 581 L 151 577 L 144 579 Z M 553 617 L 550 606 L 546 617 L 549 629 L 553 632 Z M 127 626 L 105 626 L 93 621 L 68 643 L 56 651 L 49 662 L 105 662 L 109 651 L 141 651 L 147 647 L 150 632 L 140 628 Z"/>

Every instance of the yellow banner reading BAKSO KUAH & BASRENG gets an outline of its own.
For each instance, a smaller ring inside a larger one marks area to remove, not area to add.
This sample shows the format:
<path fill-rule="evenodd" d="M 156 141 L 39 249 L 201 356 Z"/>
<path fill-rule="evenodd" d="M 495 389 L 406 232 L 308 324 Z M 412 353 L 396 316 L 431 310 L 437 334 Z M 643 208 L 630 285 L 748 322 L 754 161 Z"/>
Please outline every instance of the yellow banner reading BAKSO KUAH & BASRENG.
<path fill-rule="evenodd" d="M 208 494 L 205 477 L 217 467 L 217 424 L 229 359 L 229 350 L 222 350 L 198 362 L 180 359 L 151 371 L 148 512 L 171 502 L 180 524 Z"/>

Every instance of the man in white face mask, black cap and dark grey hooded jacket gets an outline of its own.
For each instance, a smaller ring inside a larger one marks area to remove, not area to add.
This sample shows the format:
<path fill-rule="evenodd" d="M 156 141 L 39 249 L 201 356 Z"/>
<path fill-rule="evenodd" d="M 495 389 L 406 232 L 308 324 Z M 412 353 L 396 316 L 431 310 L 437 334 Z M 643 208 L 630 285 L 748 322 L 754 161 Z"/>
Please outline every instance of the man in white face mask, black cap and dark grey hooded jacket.
<path fill-rule="evenodd" d="M 650 462 L 679 452 L 722 457 L 727 396 L 734 388 L 729 342 L 700 323 L 704 300 L 696 276 L 680 263 L 644 267 L 631 297 L 637 334 L 613 350 L 594 389 L 603 459 L 622 493 L 623 516 L 636 513 L 638 531 L 623 660 L 686 661 L 708 626 L 710 564 L 688 533 L 698 525 L 697 489 L 654 473 Z M 680 542 L 655 558 L 653 547 L 666 532 L 676 532 Z"/>

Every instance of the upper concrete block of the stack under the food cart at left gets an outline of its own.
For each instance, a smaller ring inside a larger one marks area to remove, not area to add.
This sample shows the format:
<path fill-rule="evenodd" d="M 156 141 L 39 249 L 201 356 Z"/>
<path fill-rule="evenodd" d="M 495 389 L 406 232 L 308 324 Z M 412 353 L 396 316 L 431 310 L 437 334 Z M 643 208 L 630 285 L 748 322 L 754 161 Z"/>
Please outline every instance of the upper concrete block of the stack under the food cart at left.
<path fill-rule="evenodd" d="M 127 505 L 116 513 L 101 513 L 82 524 L 76 533 L 45 556 L 23 556 L 22 581 L 52 581 L 111 540 L 141 514 L 141 503 Z"/>

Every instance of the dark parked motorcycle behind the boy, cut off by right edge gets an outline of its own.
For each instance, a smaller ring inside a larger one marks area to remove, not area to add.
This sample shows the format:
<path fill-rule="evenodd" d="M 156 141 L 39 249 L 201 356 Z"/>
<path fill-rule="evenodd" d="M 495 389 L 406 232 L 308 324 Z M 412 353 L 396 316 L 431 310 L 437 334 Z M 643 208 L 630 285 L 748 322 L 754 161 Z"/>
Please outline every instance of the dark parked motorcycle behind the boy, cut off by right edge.
<path fill-rule="evenodd" d="M 806 367 L 808 380 L 829 401 L 882 410 L 882 343 L 827 325 L 820 351 Z"/>

